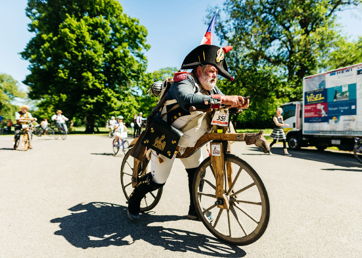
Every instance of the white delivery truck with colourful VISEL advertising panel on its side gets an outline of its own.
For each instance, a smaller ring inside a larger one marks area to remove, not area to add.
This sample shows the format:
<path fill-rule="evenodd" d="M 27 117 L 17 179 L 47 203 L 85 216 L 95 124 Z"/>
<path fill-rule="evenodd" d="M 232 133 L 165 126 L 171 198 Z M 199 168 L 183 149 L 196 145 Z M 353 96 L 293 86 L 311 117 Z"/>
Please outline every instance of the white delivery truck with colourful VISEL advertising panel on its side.
<path fill-rule="evenodd" d="M 362 136 L 362 63 L 303 78 L 303 101 L 282 105 L 289 148 L 352 151 Z"/>

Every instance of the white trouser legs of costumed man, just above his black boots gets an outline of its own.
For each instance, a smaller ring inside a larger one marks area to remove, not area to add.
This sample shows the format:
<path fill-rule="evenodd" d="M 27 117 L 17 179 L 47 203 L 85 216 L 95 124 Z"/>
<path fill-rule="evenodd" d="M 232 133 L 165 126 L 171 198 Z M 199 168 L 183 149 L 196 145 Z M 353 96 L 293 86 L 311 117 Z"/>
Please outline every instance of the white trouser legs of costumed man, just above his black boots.
<path fill-rule="evenodd" d="M 175 161 L 176 154 L 170 159 L 164 155 L 159 155 L 164 162 L 160 163 L 158 156 L 155 151 L 151 152 L 151 174 L 153 181 L 157 184 L 163 184 L 166 182 L 167 178 L 170 175 L 172 164 Z M 181 158 L 181 161 L 185 168 L 195 168 L 198 167 L 203 160 L 201 148 L 198 149 L 194 154 L 189 157 Z"/>

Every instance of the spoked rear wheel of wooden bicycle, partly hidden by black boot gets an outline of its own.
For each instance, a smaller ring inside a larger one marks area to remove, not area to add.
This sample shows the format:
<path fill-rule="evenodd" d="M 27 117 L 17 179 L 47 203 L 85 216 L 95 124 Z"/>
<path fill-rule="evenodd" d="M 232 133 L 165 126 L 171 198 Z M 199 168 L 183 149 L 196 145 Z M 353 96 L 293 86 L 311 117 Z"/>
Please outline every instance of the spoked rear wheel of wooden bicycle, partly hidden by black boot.
<path fill-rule="evenodd" d="M 132 187 L 132 171 L 133 171 L 133 157 L 130 156 L 130 150 L 124 155 L 121 165 L 121 186 L 127 201 L 133 191 Z M 141 211 L 148 211 L 153 209 L 161 199 L 163 187 L 146 194 L 141 201 Z"/>

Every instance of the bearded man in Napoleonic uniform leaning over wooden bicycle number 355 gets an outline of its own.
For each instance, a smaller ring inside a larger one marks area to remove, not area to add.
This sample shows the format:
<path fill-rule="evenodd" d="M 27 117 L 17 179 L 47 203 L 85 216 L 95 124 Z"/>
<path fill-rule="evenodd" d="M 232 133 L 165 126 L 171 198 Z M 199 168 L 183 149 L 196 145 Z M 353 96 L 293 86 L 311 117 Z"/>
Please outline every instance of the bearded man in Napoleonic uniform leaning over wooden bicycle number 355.
<path fill-rule="evenodd" d="M 145 194 L 165 184 L 177 155 L 174 152 L 167 151 L 169 149 L 168 146 L 177 146 L 178 152 L 182 155 L 184 150 L 187 147 L 193 147 L 202 135 L 211 132 L 210 115 L 201 111 L 190 112 L 190 106 L 195 106 L 196 108 L 219 108 L 221 105 L 228 105 L 237 109 L 248 107 L 249 100 L 244 100 L 241 96 L 224 96 L 216 87 L 218 74 L 226 79 L 233 80 L 228 72 L 225 60 L 225 54 L 231 49 L 231 46 L 219 48 L 213 45 L 200 45 L 185 57 L 181 69 L 193 69 L 192 72 L 184 71 L 175 74 L 174 82 L 164 98 L 166 100 L 165 103 L 159 103 L 158 110 L 157 107 L 155 108 L 156 112 L 160 110 L 158 119 L 152 120 L 153 122 L 159 121 L 160 123 L 172 125 L 173 128 L 181 131 L 180 137 L 179 139 L 172 139 L 166 133 L 164 137 L 166 146 L 163 150 L 158 149 L 155 145 L 153 145 L 155 148 L 151 145 L 148 146 L 153 149 L 150 153 L 151 172 L 140 179 L 130 195 L 127 213 L 131 219 L 138 219 L 140 201 Z M 161 127 L 160 124 L 157 124 L 155 128 L 148 129 L 152 132 L 152 130 L 157 130 Z M 145 140 L 143 137 L 145 134 L 143 133 L 138 141 L 147 145 L 148 139 Z M 137 148 L 132 150 L 136 152 Z M 193 155 L 181 159 L 188 176 L 190 193 L 188 218 L 190 219 L 197 219 L 197 213 L 192 201 L 192 182 L 195 171 L 202 160 L 203 157 L 200 149 Z"/>

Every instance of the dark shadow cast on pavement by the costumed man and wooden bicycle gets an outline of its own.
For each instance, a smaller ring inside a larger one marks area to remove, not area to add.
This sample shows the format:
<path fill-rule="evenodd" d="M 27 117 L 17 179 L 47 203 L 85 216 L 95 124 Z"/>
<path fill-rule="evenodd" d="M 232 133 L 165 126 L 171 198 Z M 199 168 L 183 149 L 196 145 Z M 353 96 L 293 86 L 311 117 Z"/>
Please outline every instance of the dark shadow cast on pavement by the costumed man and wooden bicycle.
<path fill-rule="evenodd" d="M 246 255 L 239 247 L 229 246 L 214 237 L 150 225 L 153 222 L 177 221 L 184 216 L 142 213 L 139 220 L 130 221 L 125 206 L 102 202 L 78 204 L 69 210 L 73 213 L 52 219 L 51 222 L 60 223 L 60 230 L 55 235 L 63 236 L 78 248 L 124 246 L 135 244 L 136 240 L 144 240 L 175 252 L 191 251 L 213 257 Z"/>

